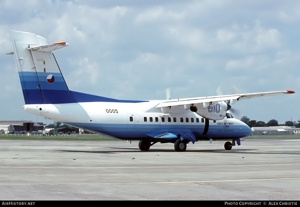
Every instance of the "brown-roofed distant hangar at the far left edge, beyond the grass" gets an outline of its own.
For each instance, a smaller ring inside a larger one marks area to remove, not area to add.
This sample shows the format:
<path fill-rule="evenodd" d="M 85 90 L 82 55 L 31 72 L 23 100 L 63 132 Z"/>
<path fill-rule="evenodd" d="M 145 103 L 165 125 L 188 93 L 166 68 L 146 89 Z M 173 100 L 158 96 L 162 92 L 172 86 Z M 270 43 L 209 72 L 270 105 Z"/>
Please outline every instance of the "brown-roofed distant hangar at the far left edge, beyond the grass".
<path fill-rule="evenodd" d="M 0 121 L 0 130 L 5 131 L 5 133 L 22 131 L 32 132 L 43 130 L 43 126 L 30 120 Z"/>

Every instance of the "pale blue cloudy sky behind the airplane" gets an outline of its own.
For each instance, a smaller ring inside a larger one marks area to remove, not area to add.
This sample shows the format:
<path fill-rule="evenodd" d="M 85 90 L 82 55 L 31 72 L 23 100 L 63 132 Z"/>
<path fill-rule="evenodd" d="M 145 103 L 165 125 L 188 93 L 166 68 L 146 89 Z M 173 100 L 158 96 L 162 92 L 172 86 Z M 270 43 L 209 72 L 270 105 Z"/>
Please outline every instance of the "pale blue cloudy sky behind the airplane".
<path fill-rule="evenodd" d="M 291 90 L 236 102 L 235 118 L 300 119 L 300 2 L 0 0 L 0 120 L 53 123 L 25 104 L 9 30 L 70 45 L 53 53 L 72 91 L 164 100 Z M 220 89 L 218 91 L 217 88 Z"/>

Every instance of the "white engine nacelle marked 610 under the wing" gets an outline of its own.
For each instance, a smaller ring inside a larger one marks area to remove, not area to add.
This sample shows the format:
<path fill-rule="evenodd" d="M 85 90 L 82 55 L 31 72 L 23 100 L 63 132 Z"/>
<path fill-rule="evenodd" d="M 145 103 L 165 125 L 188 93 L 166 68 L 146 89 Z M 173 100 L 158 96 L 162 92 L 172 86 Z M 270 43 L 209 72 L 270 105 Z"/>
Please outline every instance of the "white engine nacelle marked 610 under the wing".
<path fill-rule="evenodd" d="M 206 107 L 204 107 L 204 105 Z M 211 120 L 222 120 L 226 116 L 226 111 L 231 107 L 224 101 L 219 101 L 214 104 L 199 104 L 198 106 L 193 105 L 190 107 L 190 110 L 195 112 L 196 114 Z"/>

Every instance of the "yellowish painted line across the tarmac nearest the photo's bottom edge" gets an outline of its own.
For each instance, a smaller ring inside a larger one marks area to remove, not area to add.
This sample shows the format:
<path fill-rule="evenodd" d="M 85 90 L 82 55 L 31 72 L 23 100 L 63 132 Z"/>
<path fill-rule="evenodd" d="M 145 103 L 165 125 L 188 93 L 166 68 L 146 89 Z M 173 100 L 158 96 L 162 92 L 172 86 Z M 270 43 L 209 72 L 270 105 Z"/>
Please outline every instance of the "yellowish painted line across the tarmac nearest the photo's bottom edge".
<path fill-rule="evenodd" d="M 124 184 L 176 184 L 176 183 L 214 183 L 214 182 L 243 182 L 243 181 L 274 181 L 298 180 L 300 178 L 268 178 L 248 180 L 218 180 L 218 181 L 168 181 L 168 182 L 136 182 L 136 183 L 0 183 L 0 185 L 124 185 Z"/>

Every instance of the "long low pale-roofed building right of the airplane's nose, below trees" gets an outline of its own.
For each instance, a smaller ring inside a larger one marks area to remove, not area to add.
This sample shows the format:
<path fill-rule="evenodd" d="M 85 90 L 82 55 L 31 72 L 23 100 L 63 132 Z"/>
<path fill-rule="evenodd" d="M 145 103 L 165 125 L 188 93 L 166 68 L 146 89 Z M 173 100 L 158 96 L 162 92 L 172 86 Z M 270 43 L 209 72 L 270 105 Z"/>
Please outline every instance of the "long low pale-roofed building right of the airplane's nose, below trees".
<path fill-rule="evenodd" d="M 252 127 L 252 135 L 289 135 L 300 133 L 300 128 L 290 126 Z"/>

